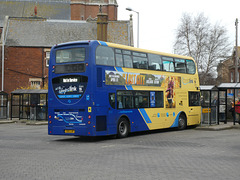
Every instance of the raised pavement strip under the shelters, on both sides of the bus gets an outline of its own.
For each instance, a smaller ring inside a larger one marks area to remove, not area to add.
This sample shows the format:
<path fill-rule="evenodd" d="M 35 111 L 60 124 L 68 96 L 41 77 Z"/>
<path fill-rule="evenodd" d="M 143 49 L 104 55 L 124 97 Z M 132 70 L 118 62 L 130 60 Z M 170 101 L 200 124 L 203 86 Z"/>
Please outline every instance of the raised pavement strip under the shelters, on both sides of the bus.
<path fill-rule="evenodd" d="M 8 123 L 22 123 L 26 125 L 32 126 L 40 126 L 40 125 L 47 125 L 48 121 L 36 121 L 36 120 L 9 120 L 9 119 L 0 119 L 1 124 L 8 124 Z M 220 130 L 227 130 L 227 129 L 240 129 L 240 125 L 238 123 L 233 124 L 233 122 L 228 122 L 227 124 L 220 123 L 220 124 L 200 124 L 195 128 L 196 130 L 205 130 L 205 131 L 220 131 Z"/>

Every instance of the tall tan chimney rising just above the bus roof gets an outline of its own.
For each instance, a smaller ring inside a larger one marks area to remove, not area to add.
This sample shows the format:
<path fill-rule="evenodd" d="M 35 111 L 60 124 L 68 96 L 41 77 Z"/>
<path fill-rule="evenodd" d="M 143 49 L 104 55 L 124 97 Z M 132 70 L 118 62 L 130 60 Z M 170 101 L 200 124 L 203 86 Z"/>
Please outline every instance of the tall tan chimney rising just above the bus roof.
<path fill-rule="evenodd" d="M 102 12 L 102 5 L 99 6 L 97 14 L 97 40 L 107 41 L 108 15 Z"/>

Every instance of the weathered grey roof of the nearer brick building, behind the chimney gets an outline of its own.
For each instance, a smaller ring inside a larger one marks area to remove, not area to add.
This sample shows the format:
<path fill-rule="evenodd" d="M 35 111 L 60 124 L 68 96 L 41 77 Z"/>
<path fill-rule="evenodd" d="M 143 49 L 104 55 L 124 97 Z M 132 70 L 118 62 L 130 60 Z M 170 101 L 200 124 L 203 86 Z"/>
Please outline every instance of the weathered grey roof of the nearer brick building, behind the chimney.
<path fill-rule="evenodd" d="M 52 47 L 69 41 L 97 39 L 96 21 L 9 17 L 4 23 L 5 45 L 14 47 Z M 108 41 L 130 45 L 130 22 L 109 21 Z"/>

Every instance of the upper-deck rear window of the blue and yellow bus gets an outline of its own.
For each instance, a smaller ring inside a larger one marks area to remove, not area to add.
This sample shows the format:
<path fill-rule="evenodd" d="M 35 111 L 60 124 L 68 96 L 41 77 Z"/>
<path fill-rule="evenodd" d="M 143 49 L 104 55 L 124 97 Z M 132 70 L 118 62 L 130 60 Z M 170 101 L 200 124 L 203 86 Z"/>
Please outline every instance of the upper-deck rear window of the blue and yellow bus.
<path fill-rule="evenodd" d="M 56 51 L 56 63 L 81 62 L 85 60 L 85 48 L 62 49 Z"/>

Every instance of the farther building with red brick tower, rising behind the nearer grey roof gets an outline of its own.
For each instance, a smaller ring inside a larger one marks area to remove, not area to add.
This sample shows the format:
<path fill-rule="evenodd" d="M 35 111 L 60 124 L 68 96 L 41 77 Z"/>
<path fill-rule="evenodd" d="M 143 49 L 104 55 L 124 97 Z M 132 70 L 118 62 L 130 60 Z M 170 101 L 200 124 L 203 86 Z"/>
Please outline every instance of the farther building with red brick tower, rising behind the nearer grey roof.
<path fill-rule="evenodd" d="M 31 17 L 37 7 L 37 15 L 46 19 L 87 20 L 97 17 L 99 5 L 110 21 L 117 20 L 116 0 L 0 0 L 0 29 L 4 17 Z"/>

